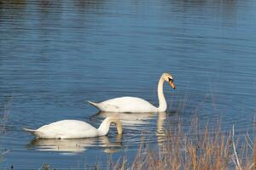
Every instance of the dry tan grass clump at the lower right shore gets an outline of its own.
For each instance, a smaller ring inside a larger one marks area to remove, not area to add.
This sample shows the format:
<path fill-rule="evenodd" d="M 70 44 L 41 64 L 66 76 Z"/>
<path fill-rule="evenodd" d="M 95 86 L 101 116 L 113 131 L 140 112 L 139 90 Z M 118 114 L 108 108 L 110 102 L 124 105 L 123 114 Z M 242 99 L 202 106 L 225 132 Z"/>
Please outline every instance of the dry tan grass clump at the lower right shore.
<path fill-rule="evenodd" d="M 141 144 L 137 156 L 127 164 L 117 162 L 113 169 L 172 169 L 172 170 L 222 170 L 255 169 L 256 144 L 246 135 L 244 139 L 230 133 L 220 133 L 220 127 L 209 132 L 199 130 L 195 123 L 191 133 L 184 133 L 181 126 L 166 131 L 166 141 L 151 149 Z M 236 140 L 235 140 L 236 139 Z M 250 141 L 250 142 L 248 142 Z M 251 143 L 251 144 L 250 144 Z M 121 159 L 120 159 L 121 160 Z"/>

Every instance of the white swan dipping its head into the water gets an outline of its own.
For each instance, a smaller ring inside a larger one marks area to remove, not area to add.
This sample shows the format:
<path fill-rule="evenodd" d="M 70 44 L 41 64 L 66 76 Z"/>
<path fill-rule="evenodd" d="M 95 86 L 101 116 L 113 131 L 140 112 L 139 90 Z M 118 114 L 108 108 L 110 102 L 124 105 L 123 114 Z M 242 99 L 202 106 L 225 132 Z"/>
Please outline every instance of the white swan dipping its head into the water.
<path fill-rule="evenodd" d="M 23 128 L 25 131 L 32 133 L 39 139 L 82 139 L 108 134 L 109 126 L 115 123 L 119 134 L 122 133 L 122 125 L 119 119 L 109 116 L 100 125 L 99 128 L 91 126 L 87 122 L 78 120 L 62 120 L 53 122 L 36 130 Z"/>

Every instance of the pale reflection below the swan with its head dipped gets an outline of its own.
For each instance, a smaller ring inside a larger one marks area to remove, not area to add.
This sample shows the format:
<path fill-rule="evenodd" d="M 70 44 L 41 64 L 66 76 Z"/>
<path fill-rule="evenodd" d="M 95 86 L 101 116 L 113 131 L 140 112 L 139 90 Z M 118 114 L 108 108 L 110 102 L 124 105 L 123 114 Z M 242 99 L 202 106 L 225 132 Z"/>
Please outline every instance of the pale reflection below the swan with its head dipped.
<path fill-rule="evenodd" d="M 41 151 L 59 151 L 61 154 L 80 153 L 91 147 L 102 147 L 104 152 L 113 153 L 121 147 L 121 135 L 117 135 L 113 143 L 107 136 L 88 139 L 33 139 L 27 147 Z"/>

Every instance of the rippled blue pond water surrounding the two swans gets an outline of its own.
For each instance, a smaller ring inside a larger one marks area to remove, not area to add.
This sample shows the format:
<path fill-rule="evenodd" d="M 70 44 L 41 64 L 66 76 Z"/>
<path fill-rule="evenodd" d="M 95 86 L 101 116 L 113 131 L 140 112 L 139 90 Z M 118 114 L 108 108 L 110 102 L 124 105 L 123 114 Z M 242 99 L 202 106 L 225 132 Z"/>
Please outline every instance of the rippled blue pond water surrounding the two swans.
<path fill-rule="evenodd" d="M 0 109 L 8 150 L 0 167 L 83 168 L 133 157 L 142 142 L 195 114 L 205 125 L 246 133 L 256 111 L 256 1 L 2 0 Z M 61 119 L 98 127 L 105 116 L 86 100 L 137 96 L 158 105 L 160 75 L 166 113 L 122 114 L 124 134 L 33 140 L 22 127 Z M 3 116 L 4 114 L 7 116 Z"/>

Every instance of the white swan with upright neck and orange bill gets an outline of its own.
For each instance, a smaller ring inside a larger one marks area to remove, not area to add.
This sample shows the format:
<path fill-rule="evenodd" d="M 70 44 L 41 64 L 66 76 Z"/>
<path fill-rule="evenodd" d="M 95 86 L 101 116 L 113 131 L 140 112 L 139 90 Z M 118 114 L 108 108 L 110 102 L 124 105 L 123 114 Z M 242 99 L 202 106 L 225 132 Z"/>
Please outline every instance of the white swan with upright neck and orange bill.
<path fill-rule="evenodd" d="M 108 99 L 101 103 L 88 101 L 90 105 L 95 106 L 100 111 L 108 112 L 164 112 L 167 109 L 166 98 L 163 93 L 164 82 L 169 82 L 170 86 L 175 89 L 173 77 L 169 73 L 163 73 L 158 82 L 158 99 L 159 107 L 151 105 L 148 101 L 135 97 L 120 97 Z"/>

